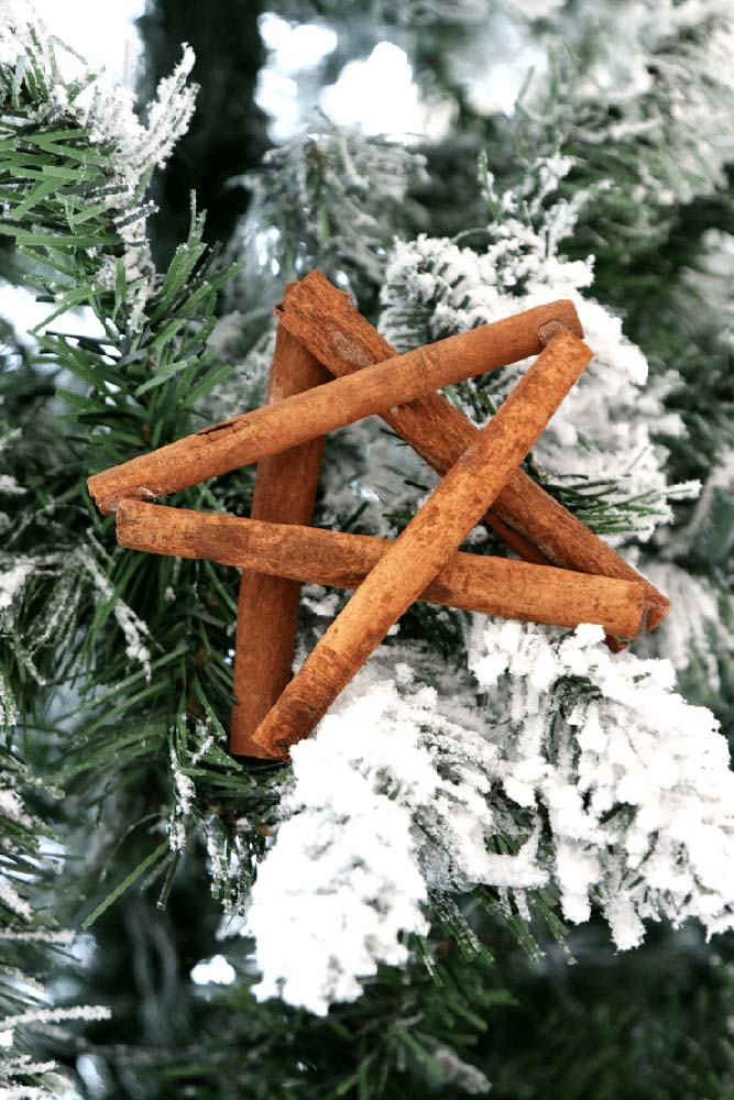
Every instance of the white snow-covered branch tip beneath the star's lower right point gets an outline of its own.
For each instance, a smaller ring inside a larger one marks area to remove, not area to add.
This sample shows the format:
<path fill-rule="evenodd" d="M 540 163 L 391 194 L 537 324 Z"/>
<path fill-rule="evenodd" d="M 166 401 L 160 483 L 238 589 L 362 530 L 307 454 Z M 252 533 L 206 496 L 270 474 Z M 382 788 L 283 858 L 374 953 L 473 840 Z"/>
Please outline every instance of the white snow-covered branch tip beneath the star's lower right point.
<path fill-rule="evenodd" d="M 719 724 L 675 691 L 668 661 L 612 656 L 601 627 L 475 619 L 470 667 L 487 693 L 499 774 L 533 791 L 526 828 L 552 844 L 565 915 L 598 897 L 620 948 L 642 921 L 734 926 L 734 773 Z"/>

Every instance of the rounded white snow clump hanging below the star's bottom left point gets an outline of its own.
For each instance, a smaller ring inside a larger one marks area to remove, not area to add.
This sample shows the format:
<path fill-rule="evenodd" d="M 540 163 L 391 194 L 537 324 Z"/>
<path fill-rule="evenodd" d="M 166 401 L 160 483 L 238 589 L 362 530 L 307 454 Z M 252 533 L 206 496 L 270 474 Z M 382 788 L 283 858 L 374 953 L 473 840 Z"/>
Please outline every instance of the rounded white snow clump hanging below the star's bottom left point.
<path fill-rule="evenodd" d="M 380 963 L 404 963 L 405 934 L 428 931 L 409 804 L 430 800 L 435 776 L 398 703 L 390 690 L 352 698 L 292 750 L 289 816 L 247 922 L 261 1000 L 281 996 L 324 1015 L 332 1001 L 355 1000 Z"/>

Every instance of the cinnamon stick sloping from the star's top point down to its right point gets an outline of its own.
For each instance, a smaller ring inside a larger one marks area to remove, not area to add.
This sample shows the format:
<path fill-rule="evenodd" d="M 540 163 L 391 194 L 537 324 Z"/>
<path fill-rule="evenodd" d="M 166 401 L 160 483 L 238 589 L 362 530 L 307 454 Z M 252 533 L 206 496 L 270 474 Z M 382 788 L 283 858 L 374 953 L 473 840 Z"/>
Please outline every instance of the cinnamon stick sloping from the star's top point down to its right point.
<path fill-rule="evenodd" d="M 395 349 L 354 309 L 349 296 L 318 271 L 296 284 L 276 314 L 281 323 L 338 377 L 353 375 L 366 364 L 395 354 Z M 439 474 L 451 468 L 479 433 L 441 394 L 429 394 L 381 416 Z M 513 473 L 484 518 L 525 560 L 642 584 L 649 602 L 648 630 L 670 608 L 670 601 L 661 592 L 522 470 Z"/>

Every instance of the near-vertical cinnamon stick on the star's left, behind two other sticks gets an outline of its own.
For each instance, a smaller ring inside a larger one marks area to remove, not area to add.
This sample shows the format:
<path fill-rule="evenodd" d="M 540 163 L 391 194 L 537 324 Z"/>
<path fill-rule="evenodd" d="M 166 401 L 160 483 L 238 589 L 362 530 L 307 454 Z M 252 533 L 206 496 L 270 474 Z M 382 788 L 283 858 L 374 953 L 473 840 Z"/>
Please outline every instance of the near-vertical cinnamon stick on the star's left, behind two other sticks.
<path fill-rule="evenodd" d="M 286 296 L 289 293 L 286 288 Z M 267 404 L 321 385 L 331 375 L 291 333 L 278 326 Z M 309 439 L 258 463 L 250 515 L 281 524 L 309 524 L 318 484 L 324 437 Z M 291 679 L 296 647 L 300 585 L 245 569 L 240 579 L 234 641 L 234 706 L 230 752 L 269 756 L 252 735 Z"/>

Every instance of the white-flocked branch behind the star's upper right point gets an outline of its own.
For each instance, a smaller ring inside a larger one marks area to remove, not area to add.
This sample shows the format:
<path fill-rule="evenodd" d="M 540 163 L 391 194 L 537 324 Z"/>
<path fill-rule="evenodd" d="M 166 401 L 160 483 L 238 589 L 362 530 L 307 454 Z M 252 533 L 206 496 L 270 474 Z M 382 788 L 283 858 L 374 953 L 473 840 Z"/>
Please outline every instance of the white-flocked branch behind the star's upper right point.
<path fill-rule="evenodd" d="M 624 337 L 620 318 L 588 296 L 593 284 L 592 258 L 568 261 L 562 255 L 560 243 L 572 233 L 588 196 L 558 200 L 547 209 L 543 201 L 571 166 L 569 157 L 538 160 L 529 205 L 525 195 L 512 191 L 500 200 L 489 177 L 487 201 L 495 210 L 502 207 L 502 213 L 487 227 L 491 243 L 481 254 L 447 238 L 421 235 L 397 243 L 382 295 L 381 330 L 403 349 L 412 310 L 424 314 L 432 339 L 440 339 L 570 298 L 594 358 L 533 453 L 551 480 L 570 479 L 581 492 L 584 484 L 591 488 L 614 482 L 612 501 L 636 498 L 646 505 L 645 512 L 629 519 L 636 538 L 645 540 L 658 524 L 672 518 L 671 486 L 664 472 L 666 451 L 654 442 L 651 426 L 656 432 L 677 436 L 682 424 L 662 407 L 672 376 L 650 383 L 647 361 Z M 485 384 L 492 399 L 504 398 L 526 366 L 515 364 L 489 376 Z M 463 411 L 475 416 L 469 402 L 463 403 Z M 695 490 L 691 486 L 688 492 L 694 495 Z M 675 492 L 679 498 L 683 490 L 676 486 Z"/>

